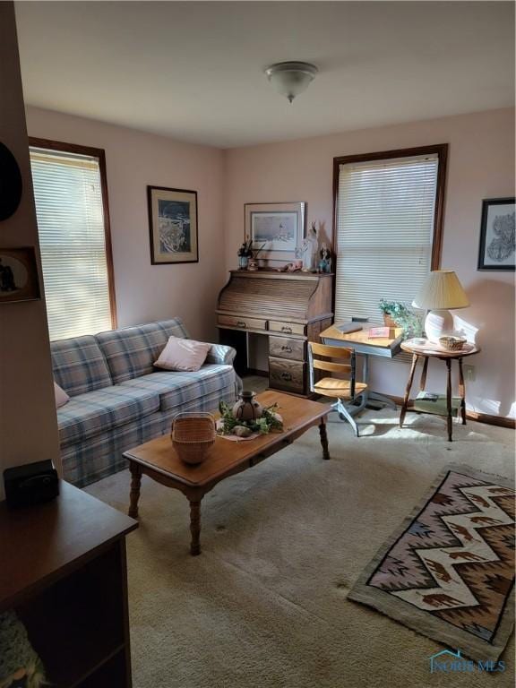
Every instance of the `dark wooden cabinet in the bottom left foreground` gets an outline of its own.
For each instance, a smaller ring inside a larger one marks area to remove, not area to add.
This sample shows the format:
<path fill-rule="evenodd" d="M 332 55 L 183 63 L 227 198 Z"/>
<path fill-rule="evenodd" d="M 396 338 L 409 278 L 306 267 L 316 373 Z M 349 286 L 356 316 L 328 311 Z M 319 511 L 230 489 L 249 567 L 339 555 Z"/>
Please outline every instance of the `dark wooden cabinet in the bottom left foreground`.
<path fill-rule="evenodd" d="M 0 613 L 15 609 L 55 688 L 130 688 L 125 535 L 138 524 L 68 483 L 60 493 L 0 503 Z"/>

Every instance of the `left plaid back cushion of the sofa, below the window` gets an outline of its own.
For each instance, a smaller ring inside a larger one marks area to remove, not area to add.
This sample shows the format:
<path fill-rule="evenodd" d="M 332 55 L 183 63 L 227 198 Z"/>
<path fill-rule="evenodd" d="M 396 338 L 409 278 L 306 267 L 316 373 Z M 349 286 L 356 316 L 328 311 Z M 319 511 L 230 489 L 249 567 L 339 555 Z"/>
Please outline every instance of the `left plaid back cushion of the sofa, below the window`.
<path fill-rule="evenodd" d="M 71 397 L 111 387 L 104 354 L 94 337 L 74 337 L 50 343 L 56 383 Z"/>

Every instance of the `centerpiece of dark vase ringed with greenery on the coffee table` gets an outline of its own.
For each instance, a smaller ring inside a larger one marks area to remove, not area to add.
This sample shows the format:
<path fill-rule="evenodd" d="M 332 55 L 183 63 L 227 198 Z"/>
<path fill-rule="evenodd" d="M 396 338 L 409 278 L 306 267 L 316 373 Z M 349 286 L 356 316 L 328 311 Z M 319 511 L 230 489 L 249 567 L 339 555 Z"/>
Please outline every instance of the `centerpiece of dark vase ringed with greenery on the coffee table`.
<path fill-rule="evenodd" d="M 228 439 L 254 439 L 260 434 L 281 432 L 283 418 L 278 413 L 278 404 L 262 408 L 254 399 L 254 391 L 242 391 L 234 406 L 220 401 L 220 420 L 217 432 Z"/>

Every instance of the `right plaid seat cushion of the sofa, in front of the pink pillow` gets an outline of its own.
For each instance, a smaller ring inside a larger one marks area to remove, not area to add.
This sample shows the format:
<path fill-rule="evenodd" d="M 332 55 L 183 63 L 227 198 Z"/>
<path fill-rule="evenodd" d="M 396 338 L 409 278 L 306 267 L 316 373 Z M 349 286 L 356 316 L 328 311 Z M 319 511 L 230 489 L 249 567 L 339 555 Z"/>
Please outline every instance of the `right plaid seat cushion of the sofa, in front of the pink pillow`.
<path fill-rule="evenodd" d="M 120 386 L 159 394 L 159 409 L 168 411 L 219 390 L 234 390 L 235 369 L 233 366 L 211 364 L 202 366 L 194 373 L 163 371 L 128 380 Z"/>

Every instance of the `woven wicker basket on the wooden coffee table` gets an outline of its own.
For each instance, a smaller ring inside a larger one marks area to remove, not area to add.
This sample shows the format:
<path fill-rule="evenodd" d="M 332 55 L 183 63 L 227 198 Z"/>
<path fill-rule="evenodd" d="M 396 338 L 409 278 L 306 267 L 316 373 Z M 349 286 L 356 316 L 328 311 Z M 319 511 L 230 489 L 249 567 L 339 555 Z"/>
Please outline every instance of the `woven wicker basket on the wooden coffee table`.
<path fill-rule="evenodd" d="M 172 421 L 170 437 L 177 456 L 185 463 L 202 463 L 210 454 L 217 434 L 211 413 L 179 413 Z"/>

